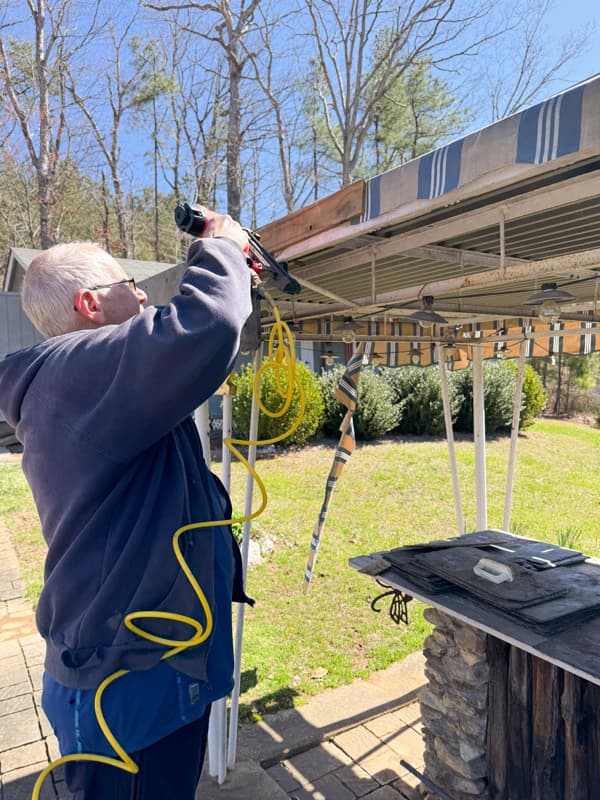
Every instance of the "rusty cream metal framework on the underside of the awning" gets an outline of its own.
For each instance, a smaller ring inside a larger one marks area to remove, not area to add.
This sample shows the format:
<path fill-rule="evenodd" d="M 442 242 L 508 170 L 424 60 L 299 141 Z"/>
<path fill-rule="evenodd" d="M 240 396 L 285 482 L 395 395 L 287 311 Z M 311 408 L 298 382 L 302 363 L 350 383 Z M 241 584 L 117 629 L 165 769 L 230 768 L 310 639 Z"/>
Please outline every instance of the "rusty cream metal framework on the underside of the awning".
<path fill-rule="evenodd" d="M 581 294 L 572 309 L 565 309 L 564 318 L 581 319 L 577 312 L 585 310 L 593 314 L 585 319 L 594 319 L 600 280 L 600 247 L 539 260 L 515 258 L 507 252 L 510 248 L 506 245 L 506 226 L 519 220 L 525 224 L 528 217 L 551 210 L 566 209 L 571 213 L 569 207 L 573 204 L 599 197 L 600 178 L 594 171 L 499 202 L 486 204 L 482 198 L 480 207 L 463 213 L 459 211 L 460 203 L 449 205 L 445 210 L 447 218 L 433 224 L 427 217 L 407 220 L 406 215 L 397 212 L 396 216 L 388 213 L 357 225 L 338 226 L 278 254 L 289 263 L 308 295 L 308 299 L 302 295 L 298 298 L 277 296 L 282 317 L 303 320 L 328 315 L 370 314 L 373 319 L 381 319 L 392 306 L 401 305 L 402 309 L 396 311 L 406 310 L 408 314 L 420 298 L 433 295 L 439 311 L 460 313 L 465 317 L 535 319 L 534 310 L 523 306 L 523 301 L 539 288 L 541 280 L 555 277 L 558 281 L 567 280 L 569 286 L 574 286 Z M 490 226 L 497 228 L 497 253 L 446 244 L 448 240 L 473 236 Z M 376 235 L 376 238 L 363 244 L 369 235 Z M 321 255 L 319 248 L 323 251 Z M 336 249 L 338 252 L 331 255 Z M 389 266 L 399 258 L 408 261 Z M 449 266 L 457 268 L 451 277 L 448 277 Z M 381 288 L 383 269 L 387 284 L 384 289 Z M 425 269 L 427 280 L 403 285 L 407 276 L 414 278 Z M 394 289 L 389 288 L 390 270 L 398 275 Z M 366 284 L 370 284 L 369 293 L 363 292 L 359 297 L 352 296 L 351 291 L 351 278 L 357 271 L 362 275 L 361 286 L 366 288 Z M 439 279 L 432 277 L 435 272 L 440 275 Z M 492 300 L 494 295 L 498 296 L 497 302 Z M 264 322 L 272 322 L 272 317 L 266 314 Z"/>

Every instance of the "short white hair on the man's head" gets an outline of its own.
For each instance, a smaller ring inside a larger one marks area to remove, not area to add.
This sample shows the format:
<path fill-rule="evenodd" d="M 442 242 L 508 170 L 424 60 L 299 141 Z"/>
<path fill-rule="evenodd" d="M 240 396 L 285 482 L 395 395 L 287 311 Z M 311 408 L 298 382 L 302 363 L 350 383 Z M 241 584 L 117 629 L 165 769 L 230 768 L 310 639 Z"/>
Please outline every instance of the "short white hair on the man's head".
<path fill-rule="evenodd" d="M 76 330 L 75 294 L 125 278 L 120 264 L 91 242 L 57 244 L 36 256 L 25 272 L 22 303 L 44 336 Z"/>

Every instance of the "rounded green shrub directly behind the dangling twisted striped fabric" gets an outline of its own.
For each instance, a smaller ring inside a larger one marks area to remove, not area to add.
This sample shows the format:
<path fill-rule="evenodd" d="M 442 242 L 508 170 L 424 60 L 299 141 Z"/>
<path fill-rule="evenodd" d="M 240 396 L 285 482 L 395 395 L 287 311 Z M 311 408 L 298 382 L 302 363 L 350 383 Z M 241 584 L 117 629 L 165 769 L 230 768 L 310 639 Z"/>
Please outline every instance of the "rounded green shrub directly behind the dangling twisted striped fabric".
<path fill-rule="evenodd" d="M 324 372 L 321 376 L 321 388 L 325 402 L 325 420 L 323 431 L 328 435 L 336 435 L 344 415 L 346 406 L 335 398 L 335 390 L 344 374 L 344 366 Z M 390 385 L 385 378 L 371 367 L 363 367 L 358 385 L 358 401 L 354 412 L 354 433 L 357 439 L 377 439 L 391 431 L 398 424 L 402 410 L 394 405 L 394 397 Z"/>

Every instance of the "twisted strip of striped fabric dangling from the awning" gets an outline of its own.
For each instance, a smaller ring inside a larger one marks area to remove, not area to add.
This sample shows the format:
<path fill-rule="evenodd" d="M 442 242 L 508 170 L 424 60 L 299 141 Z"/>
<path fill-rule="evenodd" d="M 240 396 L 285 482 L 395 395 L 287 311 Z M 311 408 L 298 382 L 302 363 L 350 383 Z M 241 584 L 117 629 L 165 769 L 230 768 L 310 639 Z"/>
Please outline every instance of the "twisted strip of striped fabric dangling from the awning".
<path fill-rule="evenodd" d="M 340 440 L 335 450 L 335 455 L 333 457 L 333 464 L 331 465 L 331 470 L 329 472 L 329 476 L 327 478 L 327 483 L 325 484 L 325 497 L 323 499 L 323 505 L 321 506 L 321 511 L 319 512 L 319 517 L 317 519 L 316 525 L 313 530 L 313 534 L 310 540 L 310 550 L 308 553 L 308 561 L 306 563 L 306 571 L 304 573 L 304 593 L 306 594 L 310 588 L 310 582 L 312 580 L 313 569 L 315 566 L 315 562 L 317 560 L 317 553 L 319 552 L 319 545 L 321 543 L 321 535 L 323 533 L 323 529 L 325 527 L 325 521 L 327 520 L 327 512 L 329 511 L 329 503 L 331 502 L 331 497 L 333 495 L 333 490 L 335 489 L 335 484 L 337 483 L 337 479 L 342 473 L 344 469 L 344 465 L 354 452 L 354 448 L 356 447 L 356 438 L 354 436 L 354 422 L 352 420 L 352 415 L 354 414 L 354 410 L 356 409 L 356 402 L 358 398 L 358 384 L 360 381 L 360 371 L 363 366 L 363 359 L 365 356 L 369 356 L 372 349 L 372 343 L 367 342 L 366 345 L 364 342 L 361 342 L 357 345 L 354 354 L 348 365 L 346 367 L 346 371 L 342 375 L 338 388 L 335 392 L 336 400 L 339 400 L 346 408 L 346 414 L 342 423 L 340 425 Z"/>

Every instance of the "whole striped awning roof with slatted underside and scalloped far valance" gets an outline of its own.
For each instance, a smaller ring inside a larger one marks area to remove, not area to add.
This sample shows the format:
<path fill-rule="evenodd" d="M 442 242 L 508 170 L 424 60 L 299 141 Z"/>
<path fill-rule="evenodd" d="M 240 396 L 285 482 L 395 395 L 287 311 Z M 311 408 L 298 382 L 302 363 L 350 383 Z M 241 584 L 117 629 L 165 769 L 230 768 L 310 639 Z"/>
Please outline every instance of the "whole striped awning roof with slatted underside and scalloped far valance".
<path fill-rule="evenodd" d="M 600 348 L 600 76 L 261 230 L 302 284 L 274 292 L 299 339 L 335 342 L 343 323 L 380 363 L 455 366 Z M 566 293 L 559 313 L 530 305 Z M 425 300 L 427 298 L 427 301 Z M 424 303 L 442 318 L 411 319 Z M 271 322 L 265 311 L 263 323 Z"/>

